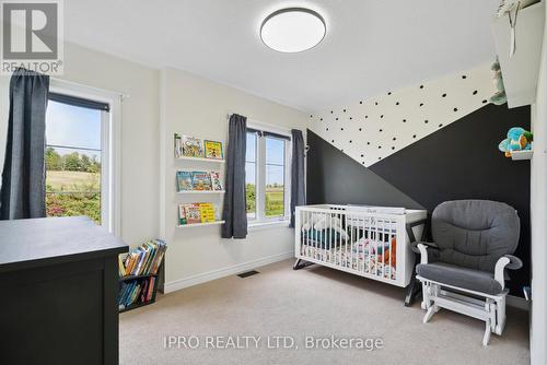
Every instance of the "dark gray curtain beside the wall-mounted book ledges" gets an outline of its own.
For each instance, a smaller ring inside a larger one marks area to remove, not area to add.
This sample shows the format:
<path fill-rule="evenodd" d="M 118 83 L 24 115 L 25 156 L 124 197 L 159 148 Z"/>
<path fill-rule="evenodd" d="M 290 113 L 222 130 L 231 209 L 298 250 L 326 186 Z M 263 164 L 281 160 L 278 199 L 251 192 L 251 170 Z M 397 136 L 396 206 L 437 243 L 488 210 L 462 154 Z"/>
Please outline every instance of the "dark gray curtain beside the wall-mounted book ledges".
<path fill-rule="evenodd" d="M 247 118 L 232 114 L 229 122 L 222 238 L 247 236 L 247 201 L 245 197 L 245 152 Z"/>

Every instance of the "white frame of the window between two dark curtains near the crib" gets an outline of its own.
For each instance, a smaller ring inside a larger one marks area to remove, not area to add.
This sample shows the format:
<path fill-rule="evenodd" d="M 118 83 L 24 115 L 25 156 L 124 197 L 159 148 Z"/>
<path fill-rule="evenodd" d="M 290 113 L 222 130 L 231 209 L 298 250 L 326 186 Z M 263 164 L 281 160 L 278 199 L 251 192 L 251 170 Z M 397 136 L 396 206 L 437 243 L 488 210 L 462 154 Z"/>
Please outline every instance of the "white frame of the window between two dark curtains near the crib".
<path fill-rule="evenodd" d="M 284 140 L 284 196 L 283 196 L 283 208 L 284 214 L 282 216 L 266 216 L 266 138 L 275 137 L 258 137 L 256 143 L 256 186 L 255 186 L 255 197 L 256 197 L 256 213 L 247 214 L 248 227 L 259 227 L 259 226 L 270 226 L 270 225 L 289 225 L 290 222 L 290 201 L 291 201 L 291 133 L 289 130 L 279 128 L 277 126 L 266 125 L 264 122 L 249 121 L 247 119 L 247 128 L 261 130 L 265 132 L 276 133 L 280 136 L 288 137 L 289 140 Z"/>

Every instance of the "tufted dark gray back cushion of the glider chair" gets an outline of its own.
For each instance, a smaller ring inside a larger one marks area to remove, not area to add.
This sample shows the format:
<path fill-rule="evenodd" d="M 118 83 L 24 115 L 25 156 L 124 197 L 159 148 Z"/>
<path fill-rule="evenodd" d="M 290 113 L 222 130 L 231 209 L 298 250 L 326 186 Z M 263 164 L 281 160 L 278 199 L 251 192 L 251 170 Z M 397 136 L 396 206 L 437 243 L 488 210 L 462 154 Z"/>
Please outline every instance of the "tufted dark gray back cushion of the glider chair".
<path fill-rule="evenodd" d="M 438 261 L 493 274 L 498 259 L 519 244 L 514 208 L 489 200 L 446 201 L 431 216 Z"/>

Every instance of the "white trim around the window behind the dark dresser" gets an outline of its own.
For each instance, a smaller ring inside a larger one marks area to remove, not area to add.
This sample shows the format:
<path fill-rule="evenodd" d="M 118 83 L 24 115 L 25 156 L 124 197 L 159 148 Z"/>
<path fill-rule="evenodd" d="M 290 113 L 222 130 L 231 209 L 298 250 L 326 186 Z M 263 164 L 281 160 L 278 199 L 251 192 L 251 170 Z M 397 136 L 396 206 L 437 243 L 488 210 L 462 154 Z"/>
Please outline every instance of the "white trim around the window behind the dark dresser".
<path fill-rule="evenodd" d="M 50 80 L 49 91 L 109 105 L 108 113 L 101 111 L 101 223 L 108 232 L 121 237 L 120 130 L 123 95 L 59 79 Z"/>

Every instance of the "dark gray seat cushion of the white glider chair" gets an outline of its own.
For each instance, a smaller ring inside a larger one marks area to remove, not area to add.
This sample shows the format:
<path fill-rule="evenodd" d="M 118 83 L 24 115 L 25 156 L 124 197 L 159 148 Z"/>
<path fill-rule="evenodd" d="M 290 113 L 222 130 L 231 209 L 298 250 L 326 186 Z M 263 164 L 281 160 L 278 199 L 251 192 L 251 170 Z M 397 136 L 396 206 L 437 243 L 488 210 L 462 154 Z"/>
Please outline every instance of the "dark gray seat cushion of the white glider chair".
<path fill-rule="evenodd" d="M 419 264 L 416 268 L 418 275 L 456 287 L 486 294 L 500 294 L 501 284 L 493 279 L 493 273 L 466 268 L 458 268 L 450 263 Z"/>

